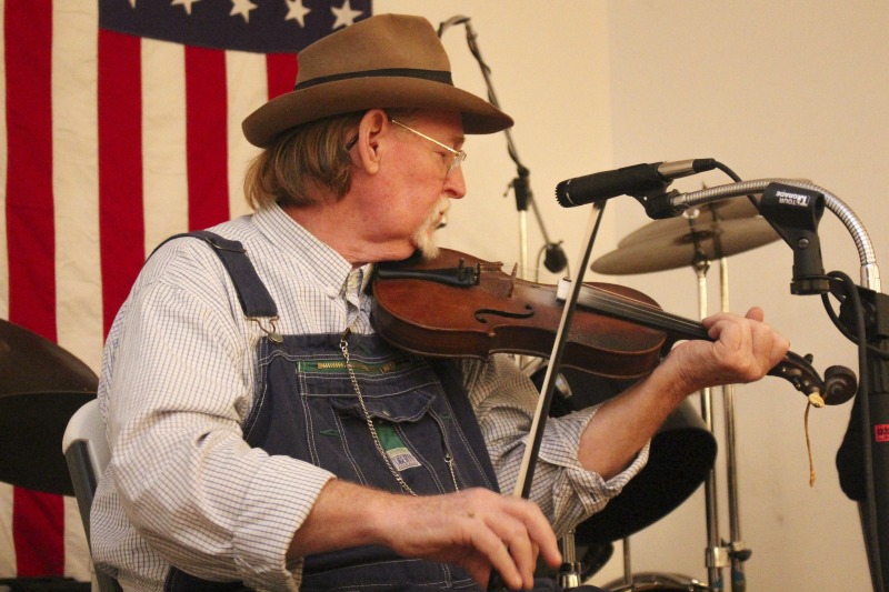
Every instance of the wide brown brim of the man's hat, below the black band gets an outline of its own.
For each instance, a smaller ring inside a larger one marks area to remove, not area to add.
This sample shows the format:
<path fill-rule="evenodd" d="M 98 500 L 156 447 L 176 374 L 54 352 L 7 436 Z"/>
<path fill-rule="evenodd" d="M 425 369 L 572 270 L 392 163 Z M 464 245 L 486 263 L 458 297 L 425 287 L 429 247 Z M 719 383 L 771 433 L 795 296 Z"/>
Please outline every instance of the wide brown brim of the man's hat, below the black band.
<path fill-rule="evenodd" d="M 247 119 L 247 140 L 267 147 L 282 131 L 326 117 L 373 108 L 458 111 L 465 133 L 495 133 L 512 127 L 512 118 L 493 104 L 450 84 L 403 77 L 352 78 L 294 90 L 270 100 Z"/>

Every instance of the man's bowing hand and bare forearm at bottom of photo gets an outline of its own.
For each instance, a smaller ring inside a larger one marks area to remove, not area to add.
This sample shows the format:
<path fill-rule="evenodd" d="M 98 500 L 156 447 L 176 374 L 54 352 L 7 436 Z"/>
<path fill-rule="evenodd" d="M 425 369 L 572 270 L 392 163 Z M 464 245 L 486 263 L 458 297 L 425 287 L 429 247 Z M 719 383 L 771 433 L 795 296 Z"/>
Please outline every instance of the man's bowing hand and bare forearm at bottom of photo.
<path fill-rule="evenodd" d="M 538 555 L 550 566 L 561 563 L 552 528 L 528 500 L 478 488 L 413 498 L 337 480 L 321 491 L 290 555 L 361 544 L 456 563 L 482 588 L 491 570 L 512 590 L 532 588 Z"/>

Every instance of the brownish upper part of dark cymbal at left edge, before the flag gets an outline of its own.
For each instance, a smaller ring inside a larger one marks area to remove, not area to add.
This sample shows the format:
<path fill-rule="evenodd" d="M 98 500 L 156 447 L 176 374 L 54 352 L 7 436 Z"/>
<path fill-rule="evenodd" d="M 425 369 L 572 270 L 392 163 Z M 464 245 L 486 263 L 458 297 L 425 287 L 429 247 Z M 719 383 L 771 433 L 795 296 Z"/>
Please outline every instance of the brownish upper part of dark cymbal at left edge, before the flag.
<path fill-rule="evenodd" d="M 56 343 L 0 319 L 0 394 L 83 391 L 93 395 L 96 373 Z"/>

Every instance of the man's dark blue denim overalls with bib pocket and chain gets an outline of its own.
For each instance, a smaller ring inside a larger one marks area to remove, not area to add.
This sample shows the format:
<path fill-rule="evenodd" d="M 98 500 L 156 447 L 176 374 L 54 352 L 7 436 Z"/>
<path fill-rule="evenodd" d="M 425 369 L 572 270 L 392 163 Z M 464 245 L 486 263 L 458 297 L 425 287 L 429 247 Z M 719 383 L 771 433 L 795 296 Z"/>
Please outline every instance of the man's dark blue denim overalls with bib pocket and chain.
<path fill-rule="evenodd" d="M 240 243 L 209 232 L 189 235 L 213 247 L 231 275 L 246 315 L 277 314 Z M 366 413 L 346 368 L 341 337 L 269 334 L 260 340 L 259 392 L 243 425 L 251 446 L 301 459 L 339 479 L 392 492 L 402 492 L 392 470 L 399 471 L 418 495 L 452 492 L 455 484 L 460 490 L 498 490 L 456 364 L 406 353 L 376 335 L 349 335 L 349 355 Z M 373 421 L 390 465 L 372 439 L 367 415 Z M 382 546 L 307 556 L 300 586 L 301 591 L 441 589 L 478 590 L 478 585 L 457 565 L 404 559 Z M 164 590 L 244 588 L 241 583 L 201 581 L 171 568 Z"/>

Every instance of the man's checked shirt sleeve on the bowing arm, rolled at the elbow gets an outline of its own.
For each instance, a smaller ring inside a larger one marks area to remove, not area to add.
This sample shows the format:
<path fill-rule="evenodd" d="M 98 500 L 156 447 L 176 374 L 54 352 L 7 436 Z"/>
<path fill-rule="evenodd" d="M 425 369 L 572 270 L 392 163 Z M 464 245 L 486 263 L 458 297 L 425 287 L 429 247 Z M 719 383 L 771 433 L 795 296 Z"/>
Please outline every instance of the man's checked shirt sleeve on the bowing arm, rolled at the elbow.
<path fill-rule="evenodd" d="M 216 255 L 176 244 L 149 261 L 109 335 L 100 403 L 119 501 L 100 503 L 119 503 L 193 575 L 296 589 L 301 562 L 286 552 L 332 475 L 244 442 L 259 330 Z"/>

